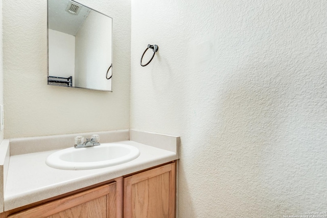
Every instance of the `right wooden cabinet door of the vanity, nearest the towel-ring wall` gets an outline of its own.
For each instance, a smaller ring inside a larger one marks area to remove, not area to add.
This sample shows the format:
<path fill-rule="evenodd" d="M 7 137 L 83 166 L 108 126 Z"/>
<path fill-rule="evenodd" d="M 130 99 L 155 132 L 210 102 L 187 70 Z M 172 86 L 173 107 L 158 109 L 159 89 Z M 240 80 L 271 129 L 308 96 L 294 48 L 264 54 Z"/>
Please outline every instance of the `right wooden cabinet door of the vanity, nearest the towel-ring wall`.
<path fill-rule="evenodd" d="M 175 163 L 124 179 L 124 217 L 175 217 Z"/>

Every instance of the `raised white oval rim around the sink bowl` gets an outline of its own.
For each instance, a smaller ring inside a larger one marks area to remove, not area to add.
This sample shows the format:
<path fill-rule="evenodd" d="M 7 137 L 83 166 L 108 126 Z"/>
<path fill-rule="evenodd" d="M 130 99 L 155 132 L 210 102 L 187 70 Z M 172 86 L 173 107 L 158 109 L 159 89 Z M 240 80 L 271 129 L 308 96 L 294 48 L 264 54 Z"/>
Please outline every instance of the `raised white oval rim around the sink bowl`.
<path fill-rule="evenodd" d="M 93 149 L 93 150 L 102 150 L 103 148 L 110 148 L 110 147 L 123 147 L 129 149 L 129 153 L 127 155 L 118 157 L 118 158 L 112 158 L 109 160 L 102 160 L 102 161 L 91 161 L 91 162 L 74 162 L 74 161 L 65 161 L 60 159 L 60 156 L 63 154 L 67 154 L 74 151 L 85 151 L 87 152 L 87 149 Z M 57 168 L 57 169 L 70 169 L 70 170 L 80 170 L 80 169 L 97 169 L 97 168 L 104 168 L 108 166 L 116 166 L 123 163 L 127 163 L 129 161 L 132 161 L 136 159 L 140 155 L 139 150 L 134 147 L 130 146 L 129 144 L 119 144 L 119 143 L 101 143 L 100 146 L 95 147 L 89 147 L 89 148 L 79 148 L 76 149 L 74 147 L 62 149 L 59 151 L 56 151 L 52 154 L 50 154 L 46 158 L 46 165 Z"/>

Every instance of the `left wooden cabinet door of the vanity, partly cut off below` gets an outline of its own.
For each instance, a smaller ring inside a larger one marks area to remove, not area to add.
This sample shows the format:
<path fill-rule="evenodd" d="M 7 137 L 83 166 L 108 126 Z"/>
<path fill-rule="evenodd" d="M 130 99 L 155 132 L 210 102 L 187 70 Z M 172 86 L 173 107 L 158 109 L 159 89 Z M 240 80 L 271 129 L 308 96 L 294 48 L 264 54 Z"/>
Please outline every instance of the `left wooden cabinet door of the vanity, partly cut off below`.
<path fill-rule="evenodd" d="M 8 218 L 116 217 L 115 191 L 116 183 L 102 185 L 9 215 Z"/>

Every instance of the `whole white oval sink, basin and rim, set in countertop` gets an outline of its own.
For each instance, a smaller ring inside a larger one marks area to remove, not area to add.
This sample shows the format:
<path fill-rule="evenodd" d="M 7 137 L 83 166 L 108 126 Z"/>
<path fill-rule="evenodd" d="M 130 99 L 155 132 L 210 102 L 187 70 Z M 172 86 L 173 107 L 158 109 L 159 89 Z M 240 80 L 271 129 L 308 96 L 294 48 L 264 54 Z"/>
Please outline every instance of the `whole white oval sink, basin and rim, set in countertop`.
<path fill-rule="evenodd" d="M 128 144 L 102 143 L 100 146 L 63 149 L 46 158 L 46 164 L 57 169 L 95 169 L 134 160 L 139 151 Z"/>

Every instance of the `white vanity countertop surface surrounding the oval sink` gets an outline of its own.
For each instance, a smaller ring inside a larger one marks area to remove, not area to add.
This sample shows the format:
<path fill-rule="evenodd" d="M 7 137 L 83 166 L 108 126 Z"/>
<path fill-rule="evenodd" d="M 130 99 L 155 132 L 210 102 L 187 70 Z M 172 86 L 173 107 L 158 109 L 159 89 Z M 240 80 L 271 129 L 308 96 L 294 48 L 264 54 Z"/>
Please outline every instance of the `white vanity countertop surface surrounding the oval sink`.
<path fill-rule="evenodd" d="M 140 155 L 127 163 L 99 169 L 65 170 L 45 164 L 53 151 L 10 156 L 4 191 L 4 210 L 35 203 L 90 185 L 128 175 L 178 159 L 175 152 L 135 141 L 119 141 L 139 149 Z"/>

